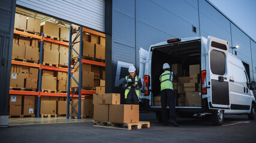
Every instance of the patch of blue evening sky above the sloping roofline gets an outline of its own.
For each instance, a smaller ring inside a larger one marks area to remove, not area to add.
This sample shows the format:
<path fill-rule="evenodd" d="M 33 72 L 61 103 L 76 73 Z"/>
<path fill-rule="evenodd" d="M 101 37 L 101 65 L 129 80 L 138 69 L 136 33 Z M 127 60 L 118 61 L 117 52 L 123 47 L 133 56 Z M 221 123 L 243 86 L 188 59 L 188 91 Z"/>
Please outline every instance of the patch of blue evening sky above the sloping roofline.
<path fill-rule="evenodd" d="M 256 0 L 209 0 L 256 42 Z"/>

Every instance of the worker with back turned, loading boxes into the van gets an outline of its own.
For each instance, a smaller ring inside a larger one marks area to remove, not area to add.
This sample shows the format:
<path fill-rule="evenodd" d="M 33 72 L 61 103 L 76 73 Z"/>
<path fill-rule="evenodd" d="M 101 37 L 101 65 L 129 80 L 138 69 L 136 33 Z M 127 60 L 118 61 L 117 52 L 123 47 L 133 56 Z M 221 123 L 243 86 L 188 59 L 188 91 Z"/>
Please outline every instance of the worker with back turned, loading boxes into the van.
<path fill-rule="evenodd" d="M 176 74 L 170 71 L 170 65 L 164 63 L 162 66 L 164 73 L 161 74 L 159 80 L 161 82 L 161 105 L 162 105 L 162 121 L 164 125 L 167 126 L 168 122 L 174 126 L 178 126 L 176 123 L 176 113 L 175 113 L 175 100 L 173 92 L 173 78 L 176 78 Z M 168 119 L 167 113 L 167 102 L 169 104 L 170 118 Z"/>

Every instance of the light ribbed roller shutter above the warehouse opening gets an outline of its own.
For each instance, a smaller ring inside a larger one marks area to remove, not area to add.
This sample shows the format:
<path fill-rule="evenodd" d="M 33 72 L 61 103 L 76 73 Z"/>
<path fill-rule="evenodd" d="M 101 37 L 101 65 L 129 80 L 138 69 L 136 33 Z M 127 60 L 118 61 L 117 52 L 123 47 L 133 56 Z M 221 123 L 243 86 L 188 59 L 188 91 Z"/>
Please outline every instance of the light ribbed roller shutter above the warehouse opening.
<path fill-rule="evenodd" d="M 17 0 L 17 5 L 105 32 L 105 1 Z"/>

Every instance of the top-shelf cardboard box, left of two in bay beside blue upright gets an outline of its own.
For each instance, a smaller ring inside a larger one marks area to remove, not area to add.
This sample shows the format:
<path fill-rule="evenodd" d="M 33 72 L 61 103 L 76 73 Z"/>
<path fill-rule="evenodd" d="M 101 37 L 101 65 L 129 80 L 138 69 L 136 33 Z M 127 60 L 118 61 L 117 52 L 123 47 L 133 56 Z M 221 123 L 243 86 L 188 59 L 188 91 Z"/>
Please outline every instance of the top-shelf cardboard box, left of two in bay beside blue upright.
<path fill-rule="evenodd" d="M 41 23 L 41 32 L 45 35 L 59 37 L 59 26 L 49 22 Z"/>

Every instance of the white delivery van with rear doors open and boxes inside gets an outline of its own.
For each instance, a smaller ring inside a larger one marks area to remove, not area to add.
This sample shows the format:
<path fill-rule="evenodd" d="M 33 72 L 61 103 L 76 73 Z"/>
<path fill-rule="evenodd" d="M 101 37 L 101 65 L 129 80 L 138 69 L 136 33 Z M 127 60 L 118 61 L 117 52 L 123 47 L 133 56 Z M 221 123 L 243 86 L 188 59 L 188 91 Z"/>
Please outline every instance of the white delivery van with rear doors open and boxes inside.
<path fill-rule="evenodd" d="M 222 125 L 224 113 L 248 114 L 249 119 L 255 118 L 255 98 L 252 92 L 256 89 L 255 82 L 249 82 L 242 61 L 228 53 L 228 41 L 209 36 L 207 39 L 170 39 L 150 46 L 146 61 L 140 64 L 140 70 L 144 71 L 144 75 L 140 75 L 144 76 L 141 97 L 147 98 L 149 110 L 156 112 L 158 120 L 161 120 L 161 105 L 159 102 L 154 105 L 153 100 L 161 93 L 159 76 L 163 72 L 164 63 L 169 63 L 172 68 L 173 65 L 180 67 L 175 67 L 179 72 L 176 73 L 176 83 L 173 83 L 176 112 L 180 117 L 210 116 L 213 125 Z M 196 72 L 192 71 L 191 65 L 198 66 L 199 80 L 195 84 L 199 88 L 191 83 L 192 92 L 189 92 L 191 87 L 186 87 L 182 80 Z"/>

